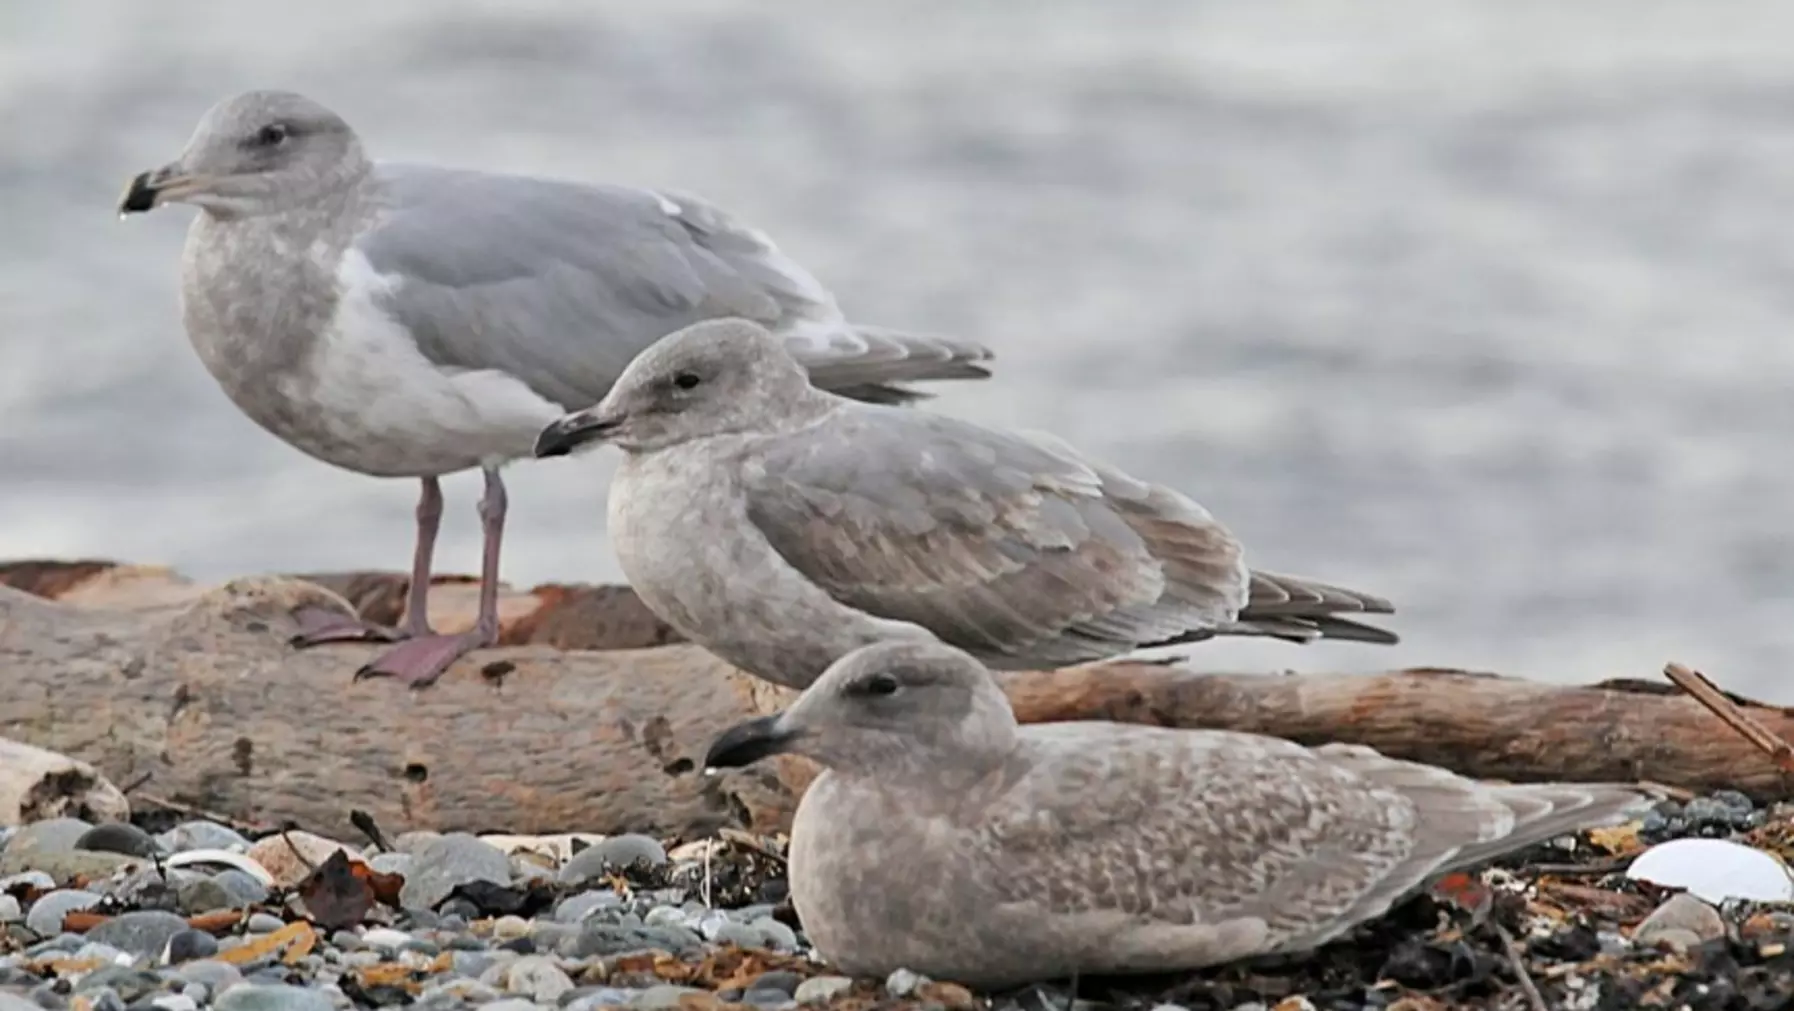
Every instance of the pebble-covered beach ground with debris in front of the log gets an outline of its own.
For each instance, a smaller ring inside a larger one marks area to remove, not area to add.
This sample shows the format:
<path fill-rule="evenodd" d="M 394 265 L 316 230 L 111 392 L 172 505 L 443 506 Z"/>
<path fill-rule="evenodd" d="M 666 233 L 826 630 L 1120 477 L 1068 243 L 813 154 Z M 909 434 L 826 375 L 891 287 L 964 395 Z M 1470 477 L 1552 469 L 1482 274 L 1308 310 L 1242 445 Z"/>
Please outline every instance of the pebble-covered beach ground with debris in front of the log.
<path fill-rule="evenodd" d="M 1665 801 L 1642 823 L 1453 875 L 1304 957 L 997 995 L 911 972 L 832 975 L 788 902 L 777 837 L 386 839 L 362 825 L 375 841 L 296 828 L 253 837 L 167 812 L 0 828 L 0 1011 L 1794 1002 L 1794 907 L 1708 903 L 1625 873 L 1668 839 L 1794 851 L 1794 808 L 1764 810 L 1738 794 Z"/>

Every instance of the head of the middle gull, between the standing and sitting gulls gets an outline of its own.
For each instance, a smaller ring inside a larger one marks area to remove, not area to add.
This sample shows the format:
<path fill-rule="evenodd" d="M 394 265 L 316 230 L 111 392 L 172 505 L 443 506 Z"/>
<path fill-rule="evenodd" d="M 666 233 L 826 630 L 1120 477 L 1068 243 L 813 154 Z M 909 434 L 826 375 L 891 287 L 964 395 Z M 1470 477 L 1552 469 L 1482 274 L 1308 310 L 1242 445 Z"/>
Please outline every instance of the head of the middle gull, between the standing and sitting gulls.
<path fill-rule="evenodd" d="M 653 452 L 777 430 L 816 396 L 782 339 L 746 319 L 707 319 L 649 344 L 605 400 L 544 428 L 536 455 L 558 457 L 597 441 Z"/>

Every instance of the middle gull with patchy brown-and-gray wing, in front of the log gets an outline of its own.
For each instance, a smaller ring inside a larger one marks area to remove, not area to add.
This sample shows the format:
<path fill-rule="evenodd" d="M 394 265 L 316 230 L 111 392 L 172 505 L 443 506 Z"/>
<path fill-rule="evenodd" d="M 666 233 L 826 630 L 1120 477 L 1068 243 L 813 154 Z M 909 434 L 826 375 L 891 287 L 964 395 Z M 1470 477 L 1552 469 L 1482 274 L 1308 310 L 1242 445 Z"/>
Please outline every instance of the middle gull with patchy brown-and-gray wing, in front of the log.
<path fill-rule="evenodd" d="M 536 455 L 624 454 L 610 540 L 642 601 L 752 674 L 809 685 L 845 652 L 938 636 L 999 669 L 1216 635 L 1396 636 L 1387 601 L 1247 568 L 1202 506 L 1051 436 L 816 389 L 745 319 L 657 341 Z"/>

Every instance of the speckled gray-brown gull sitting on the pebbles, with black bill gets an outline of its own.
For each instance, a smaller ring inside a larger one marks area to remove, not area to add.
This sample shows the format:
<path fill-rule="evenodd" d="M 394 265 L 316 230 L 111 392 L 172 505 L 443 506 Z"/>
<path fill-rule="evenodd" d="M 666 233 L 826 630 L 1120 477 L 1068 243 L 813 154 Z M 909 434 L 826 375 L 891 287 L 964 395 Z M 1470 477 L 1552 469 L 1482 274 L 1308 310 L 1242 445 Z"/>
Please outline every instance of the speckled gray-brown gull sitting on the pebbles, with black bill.
<path fill-rule="evenodd" d="M 1017 726 L 971 656 L 886 642 L 707 767 L 825 771 L 791 828 L 791 902 L 852 975 L 980 988 L 1295 954 L 1435 875 L 1638 816 L 1620 783 L 1493 785 L 1362 746 L 1116 722 Z"/>

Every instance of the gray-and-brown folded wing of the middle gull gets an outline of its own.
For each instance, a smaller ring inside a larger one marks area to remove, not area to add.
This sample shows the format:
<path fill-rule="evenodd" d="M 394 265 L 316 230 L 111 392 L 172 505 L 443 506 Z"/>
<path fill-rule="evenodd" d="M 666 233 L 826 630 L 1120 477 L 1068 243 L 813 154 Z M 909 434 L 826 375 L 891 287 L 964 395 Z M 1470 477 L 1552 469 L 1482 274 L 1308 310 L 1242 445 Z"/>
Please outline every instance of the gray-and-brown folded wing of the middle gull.
<path fill-rule="evenodd" d="M 836 601 L 994 667 L 1058 667 L 1232 620 L 1240 543 L 1064 443 L 847 405 L 770 441 L 748 516 Z"/>

